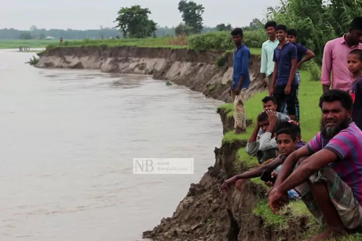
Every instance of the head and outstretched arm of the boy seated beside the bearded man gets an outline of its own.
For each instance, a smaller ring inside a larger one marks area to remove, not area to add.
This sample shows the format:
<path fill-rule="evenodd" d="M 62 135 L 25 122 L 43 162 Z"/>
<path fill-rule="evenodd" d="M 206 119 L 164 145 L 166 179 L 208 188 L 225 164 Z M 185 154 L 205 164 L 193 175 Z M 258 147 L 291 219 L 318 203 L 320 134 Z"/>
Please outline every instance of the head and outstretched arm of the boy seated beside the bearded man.
<path fill-rule="evenodd" d="M 285 123 L 283 123 L 285 124 Z M 245 179 L 261 177 L 263 172 L 271 173 L 275 168 L 282 165 L 284 160 L 293 152 L 296 151 L 296 146 L 298 143 L 298 129 L 293 123 L 289 123 L 289 128 L 281 128 L 276 133 L 276 142 L 280 155 L 275 158 L 273 161 L 266 165 L 262 165 L 254 170 L 246 171 L 242 174 L 233 176 L 232 178 L 224 181 L 221 188 L 224 191 L 230 189 L 230 185 L 236 182 L 236 188 L 240 190 L 241 184 Z M 279 126 L 279 125 L 278 125 Z"/>

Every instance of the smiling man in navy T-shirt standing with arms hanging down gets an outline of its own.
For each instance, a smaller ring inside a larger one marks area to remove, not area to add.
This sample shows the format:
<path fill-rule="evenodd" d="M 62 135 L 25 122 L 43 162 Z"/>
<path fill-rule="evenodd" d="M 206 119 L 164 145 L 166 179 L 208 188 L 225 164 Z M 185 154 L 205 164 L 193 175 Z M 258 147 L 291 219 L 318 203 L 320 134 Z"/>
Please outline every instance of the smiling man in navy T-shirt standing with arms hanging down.
<path fill-rule="evenodd" d="M 283 103 L 287 105 L 287 112 L 291 120 L 296 120 L 296 46 L 287 41 L 287 27 L 278 25 L 276 37 L 278 46 L 274 49 L 274 71 L 269 95 L 273 95 L 277 101 L 278 112 L 283 109 Z"/>

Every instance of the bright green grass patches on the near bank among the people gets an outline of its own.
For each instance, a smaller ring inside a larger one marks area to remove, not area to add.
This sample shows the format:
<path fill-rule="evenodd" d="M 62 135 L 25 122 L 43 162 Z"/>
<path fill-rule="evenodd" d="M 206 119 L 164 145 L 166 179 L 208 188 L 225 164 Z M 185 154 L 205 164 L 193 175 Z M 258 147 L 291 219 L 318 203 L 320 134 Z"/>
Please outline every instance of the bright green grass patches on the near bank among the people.
<path fill-rule="evenodd" d="M 322 86 L 319 81 L 310 81 L 309 73 L 301 71 L 301 83 L 299 86 L 299 105 L 300 105 L 300 127 L 303 141 L 309 141 L 319 131 L 321 111 L 318 107 L 319 98 L 322 95 Z M 261 99 L 267 95 L 267 92 L 261 92 L 253 95 L 245 103 L 246 115 L 249 119 L 256 122 L 258 114 L 263 110 Z M 228 116 L 233 114 L 233 105 L 231 103 L 224 104 L 218 108 L 230 110 Z M 247 128 L 246 134 L 235 135 L 233 131 L 227 132 L 224 135 L 223 142 L 233 142 L 234 140 L 249 139 L 254 126 Z M 249 156 L 245 148 L 240 148 L 236 153 L 236 160 L 245 162 L 247 166 L 253 167 L 257 164 L 255 157 Z M 264 185 L 259 178 L 252 179 L 258 185 Z M 307 210 L 301 201 L 290 202 L 285 209 L 280 212 L 280 215 L 275 215 L 270 211 L 266 199 L 259 200 L 254 214 L 263 217 L 265 224 L 275 225 L 279 228 L 287 228 L 288 220 L 296 219 L 301 216 L 308 216 L 312 223 L 310 223 L 309 232 L 305 233 L 306 238 L 309 238 L 321 231 L 321 227 L 314 222 L 314 218 Z M 362 234 L 347 236 L 341 241 L 362 241 Z"/>

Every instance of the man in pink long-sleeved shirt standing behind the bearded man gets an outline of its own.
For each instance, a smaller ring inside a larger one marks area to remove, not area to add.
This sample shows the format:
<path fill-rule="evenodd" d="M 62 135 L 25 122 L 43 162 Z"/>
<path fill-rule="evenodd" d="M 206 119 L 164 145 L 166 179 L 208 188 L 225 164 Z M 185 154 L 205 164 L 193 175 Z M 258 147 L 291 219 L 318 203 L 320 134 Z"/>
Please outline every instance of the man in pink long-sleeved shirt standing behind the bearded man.
<path fill-rule="evenodd" d="M 340 38 L 329 40 L 323 51 L 321 82 L 323 92 L 330 88 L 349 91 L 352 81 L 347 67 L 347 56 L 353 49 L 362 49 L 362 17 L 352 20 L 348 32 Z"/>

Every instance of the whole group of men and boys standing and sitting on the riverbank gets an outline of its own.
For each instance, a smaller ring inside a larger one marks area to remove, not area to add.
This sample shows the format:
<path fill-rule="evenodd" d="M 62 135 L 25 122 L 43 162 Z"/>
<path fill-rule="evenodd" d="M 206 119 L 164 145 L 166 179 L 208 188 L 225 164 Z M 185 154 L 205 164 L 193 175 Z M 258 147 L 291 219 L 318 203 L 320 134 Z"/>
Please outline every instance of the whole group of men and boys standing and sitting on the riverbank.
<path fill-rule="evenodd" d="M 231 177 L 222 188 L 228 190 L 233 183 L 239 188 L 243 180 L 265 176 L 265 172 L 270 176 L 273 171 L 276 180 L 269 183 L 272 186 L 268 193 L 270 209 L 277 213 L 291 199 L 290 191 L 296 192 L 296 197 L 325 228 L 313 241 L 360 232 L 362 17 L 354 18 L 343 36 L 328 41 L 324 47 L 320 132 L 306 145 L 300 142 L 297 123 L 299 67 L 314 54 L 295 43 L 296 30 L 287 30 L 286 26 L 270 21 L 265 24 L 265 31 L 268 40 L 263 43 L 261 73 L 269 96 L 262 100 L 264 111 L 258 116 L 247 152 L 256 155 L 259 163 L 265 162 L 269 155 L 276 158 L 267 165 Z M 242 133 L 246 130 L 243 94 L 250 83 L 250 52 L 242 44 L 241 29 L 233 30 L 231 35 L 236 48 L 230 94 L 235 108 L 235 132 Z M 294 120 L 293 124 L 288 119 Z M 263 136 L 258 134 L 260 130 Z M 278 156 L 275 149 L 279 151 Z"/>

